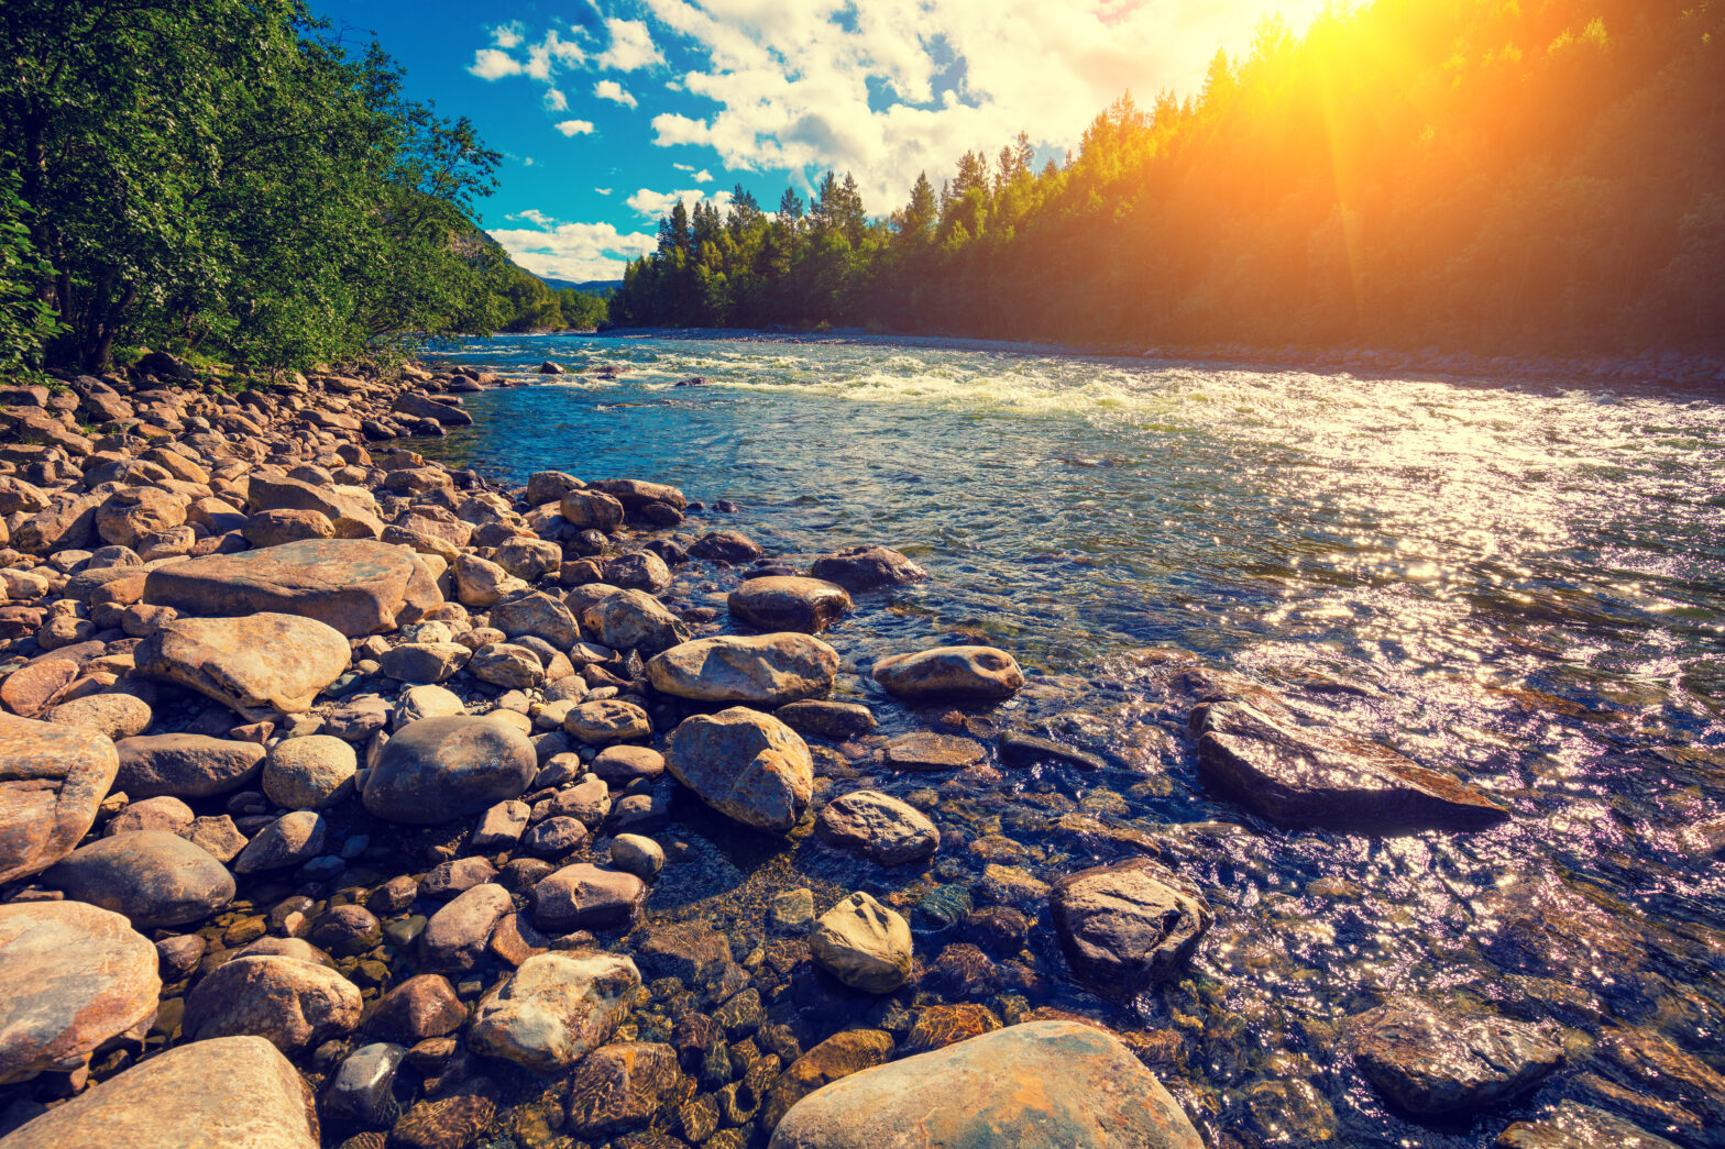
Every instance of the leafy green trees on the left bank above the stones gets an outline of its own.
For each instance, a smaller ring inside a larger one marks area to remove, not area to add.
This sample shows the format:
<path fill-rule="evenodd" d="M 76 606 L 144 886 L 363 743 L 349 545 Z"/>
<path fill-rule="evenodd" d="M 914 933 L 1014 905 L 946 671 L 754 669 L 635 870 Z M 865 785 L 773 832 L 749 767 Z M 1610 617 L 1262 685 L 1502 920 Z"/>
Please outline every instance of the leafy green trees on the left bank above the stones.
<path fill-rule="evenodd" d="M 480 229 L 499 154 L 473 126 L 298 0 L 7 0 L 0 36 L 0 369 L 305 366 L 604 317 Z"/>

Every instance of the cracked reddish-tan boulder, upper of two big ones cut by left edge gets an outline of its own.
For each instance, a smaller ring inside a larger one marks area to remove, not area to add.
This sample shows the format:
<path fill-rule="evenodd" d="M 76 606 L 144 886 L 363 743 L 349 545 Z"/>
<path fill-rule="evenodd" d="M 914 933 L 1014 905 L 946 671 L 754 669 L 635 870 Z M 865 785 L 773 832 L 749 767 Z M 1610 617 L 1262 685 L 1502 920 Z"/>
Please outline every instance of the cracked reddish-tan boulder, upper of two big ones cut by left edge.
<path fill-rule="evenodd" d="M 66 857 L 117 771 L 119 754 L 98 733 L 0 714 L 0 885 Z"/>

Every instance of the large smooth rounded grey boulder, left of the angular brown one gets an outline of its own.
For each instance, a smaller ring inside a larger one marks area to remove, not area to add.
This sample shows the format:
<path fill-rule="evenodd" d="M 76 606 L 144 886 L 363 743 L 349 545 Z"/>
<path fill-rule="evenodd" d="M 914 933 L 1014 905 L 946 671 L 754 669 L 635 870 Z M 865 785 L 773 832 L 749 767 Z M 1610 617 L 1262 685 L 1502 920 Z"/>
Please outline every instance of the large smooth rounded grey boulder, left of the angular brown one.
<path fill-rule="evenodd" d="M 521 797 L 538 773 L 524 733 L 493 718 L 421 718 L 395 731 L 366 778 L 366 809 L 436 826 Z"/>

